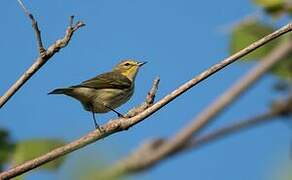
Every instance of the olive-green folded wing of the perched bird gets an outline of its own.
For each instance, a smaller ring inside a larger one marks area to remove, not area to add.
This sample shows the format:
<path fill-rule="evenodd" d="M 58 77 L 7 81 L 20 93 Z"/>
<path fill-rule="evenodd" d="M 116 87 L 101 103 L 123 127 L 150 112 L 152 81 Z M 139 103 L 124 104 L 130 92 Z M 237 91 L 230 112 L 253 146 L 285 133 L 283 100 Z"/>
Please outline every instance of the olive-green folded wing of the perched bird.
<path fill-rule="evenodd" d="M 115 72 L 108 72 L 100 74 L 92 79 L 82 82 L 80 85 L 72 87 L 87 87 L 93 89 L 125 89 L 130 88 L 131 85 L 132 82 L 126 76 Z"/>

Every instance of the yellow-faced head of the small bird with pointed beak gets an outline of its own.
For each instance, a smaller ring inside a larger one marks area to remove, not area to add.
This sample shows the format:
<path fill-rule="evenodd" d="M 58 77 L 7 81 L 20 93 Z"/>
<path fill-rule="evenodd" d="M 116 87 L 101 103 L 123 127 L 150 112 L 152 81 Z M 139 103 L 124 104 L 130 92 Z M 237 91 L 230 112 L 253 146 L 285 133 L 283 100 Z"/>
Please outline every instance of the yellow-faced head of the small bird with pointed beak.
<path fill-rule="evenodd" d="M 119 72 L 133 81 L 139 71 L 139 68 L 146 63 L 147 62 L 138 62 L 135 60 L 124 60 L 117 64 L 113 71 Z"/>

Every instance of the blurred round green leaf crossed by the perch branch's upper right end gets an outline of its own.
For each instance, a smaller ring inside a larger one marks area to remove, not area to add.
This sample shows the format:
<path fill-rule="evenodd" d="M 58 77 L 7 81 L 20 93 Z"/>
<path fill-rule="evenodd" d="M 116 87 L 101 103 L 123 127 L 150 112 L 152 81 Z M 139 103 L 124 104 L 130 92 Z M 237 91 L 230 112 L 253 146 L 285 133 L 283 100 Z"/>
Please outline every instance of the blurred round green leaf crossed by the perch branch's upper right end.
<path fill-rule="evenodd" d="M 271 26 L 265 25 L 256 20 L 245 21 L 236 26 L 231 33 L 230 40 L 230 53 L 236 53 L 239 50 L 245 48 L 251 43 L 259 40 L 267 34 L 270 34 L 274 31 Z M 274 40 L 270 42 L 249 55 L 243 57 L 244 60 L 258 60 L 266 56 L 275 45 L 277 45 L 279 40 Z"/>

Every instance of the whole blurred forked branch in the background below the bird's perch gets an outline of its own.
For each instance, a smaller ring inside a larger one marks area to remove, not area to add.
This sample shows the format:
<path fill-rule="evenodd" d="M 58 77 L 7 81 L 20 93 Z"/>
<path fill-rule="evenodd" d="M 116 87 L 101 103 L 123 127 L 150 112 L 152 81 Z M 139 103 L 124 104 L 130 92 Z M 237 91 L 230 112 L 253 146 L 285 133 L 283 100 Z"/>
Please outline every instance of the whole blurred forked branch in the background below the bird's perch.
<path fill-rule="evenodd" d="M 199 118 L 193 121 L 194 124 L 208 122 L 212 120 L 215 116 L 219 115 L 220 112 L 226 108 L 230 103 L 232 103 L 236 98 L 242 94 L 248 87 L 250 87 L 256 80 L 260 78 L 265 72 L 267 72 L 270 67 L 284 59 L 286 55 L 290 54 L 292 51 L 292 43 L 286 41 L 276 47 L 270 54 L 261 60 L 254 69 L 248 72 L 240 80 L 235 83 L 232 88 L 227 90 L 220 98 L 217 99 L 213 104 L 206 108 L 203 113 L 201 113 Z M 287 101 L 281 101 L 275 103 L 272 107 L 273 109 L 267 113 L 251 118 L 250 120 L 241 121 L 238 124 L 232 124 L 221 128 L 213 133 L 210 133 L 204 137 L 194 138 L 186 141 L 184 144 L 180 145 L 177 149 L 170 151 L 168 154 L 161 156 L 160 148 L 165 144 L 169 143 L 167 139 L 156 139 L 150 142 L 145 142 L 140 148 L 135 150 L 129 156 L 123 158 L 122 160 L 115 163 L 113 166 L 106 169 L 100 174 L 100 178 L 114 178 L 130 173 L 137 173 L 142 170 L 148 169 L 156 165 L 157 163 L 165 160 L 173 155 L 177 155 L 182 151 L 197 147 L 200 144 L 205 144 L 206 142 L 212 142 L 213 139 L 217 140 L 220 137 L 225 137 L 241 129 L 254 126 L 258 123 L 266 122 L 278 116 L 287 116 L 292 114 L 292 97 L 289 97 Z M 188 126 L 187 126 L 188 127 Z M 183 131 L 182 131 L 183 132 Z M 195 132 L 197 134 L 197 132 Z M 174 144 L 177 145 L 177 144 Z M 143 158 L 142 158 L 143 157 Z"/>

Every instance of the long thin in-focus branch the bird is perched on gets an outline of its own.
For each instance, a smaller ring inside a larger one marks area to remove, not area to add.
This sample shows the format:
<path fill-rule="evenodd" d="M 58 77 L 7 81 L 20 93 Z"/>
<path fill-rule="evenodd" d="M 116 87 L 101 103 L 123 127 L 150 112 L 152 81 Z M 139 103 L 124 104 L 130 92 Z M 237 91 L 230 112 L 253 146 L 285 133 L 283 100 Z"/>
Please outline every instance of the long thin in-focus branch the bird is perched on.
<path fill-rule="evenodd" d="M 209 69 L 205 70 L 198 76 L 194 77 L 190 81 L 186 82 L 179 88 L 175 89 L 170 94 L 166 95 L 164 98 L 159 100 L 157 103 L 153 104 L 148 109 L 144 110 L 143 112 L 139 113 L 138 115 L 131 117 L 131 118 L 118 118 L 108 122 L 107 124 L 102 126 L 103 131 L 100 132 L 98 130 L 92 131 L 89 134 L 81 137 L 78 140 L 75 140 L 65 146 L 59 147 L 51 152 L 42 155 L 36 159 L 30 160 L 22 165 L 16 166 L 10 170 L 7 170 L 0 174 L 0 179 L 7 179 L 12 178 L 17 175 L 20 175 L 24 172 L 27 172 L 33 168 L 39 167 L 47 162 L 50 162 L 56 158 L 59 158 L 65 154 L 73 152 L 77 149 L 80 149 L 88 144 L 91 144 L 99 139 L 107 137 L 111 134 L 124 131 L 129 129 L 130 127 L 142 122 L 145 118 L 149 117 L 160 108 L 164 107 L 169 102 L 173 101 L 175 98 L 195 86 L 196 84 L 200 83 L 204 79 L 210 77 L 211 75 L 215 74 L 219 70 L 223 69 L 224 67 L 228 66 L 229 64 L 237 61 L 239 58 L 247 55 L 248 53 L 254 51 L 255 49 L 263 46 L 264 44 L 270 42 L 271 40 L 280 37 L 281 35 L 290 32 L 292 30 L 292 23 L 287 24 L 286 26 L 278 29 L 277 31 L 263 37 L 262 39 L 252 43 L 248 47 L 242 49 L 241 51 L 235 53 L 234 55 L 222 60 L 221 62 L 213 65 Z"/>

